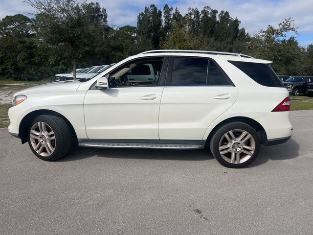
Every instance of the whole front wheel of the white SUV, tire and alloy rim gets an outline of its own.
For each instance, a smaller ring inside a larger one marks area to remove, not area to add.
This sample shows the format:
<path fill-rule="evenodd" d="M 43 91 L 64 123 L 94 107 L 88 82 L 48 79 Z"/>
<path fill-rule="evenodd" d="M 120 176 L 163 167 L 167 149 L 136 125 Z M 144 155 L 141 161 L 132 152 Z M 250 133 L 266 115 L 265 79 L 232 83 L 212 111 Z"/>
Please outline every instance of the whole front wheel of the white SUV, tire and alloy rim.
<path fill-rule="evenodd" d="M 28 127 L 28 144 L 38 158 L 54 161 L 71 149 L 71 131 L 63 118 L 40 115 Z"/>

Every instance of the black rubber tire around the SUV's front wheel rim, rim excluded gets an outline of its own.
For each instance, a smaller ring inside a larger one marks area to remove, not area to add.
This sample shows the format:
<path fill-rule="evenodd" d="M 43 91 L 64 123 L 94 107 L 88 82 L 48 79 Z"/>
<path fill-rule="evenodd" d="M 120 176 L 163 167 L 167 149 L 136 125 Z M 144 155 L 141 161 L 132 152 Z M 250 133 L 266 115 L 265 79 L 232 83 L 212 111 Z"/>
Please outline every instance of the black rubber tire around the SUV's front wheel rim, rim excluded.
<path fill-rule="evenodd" d="M 30 139 L 30 130 L 31 130 L 31 127 L 37 122 L 45 122 L 54 132 L 55 148 L 52 154 L 49 156 L 42 156 L 38 154 L 32 145 L 33 143 L 31 142 L 31 139 Z M 70 151 L 72 147 L 72 135 L 71 135 L 70 128 L 67 122 L 63 118 L 56 116 L 56 115 L 40 115 L 36 117 L 28 126 L 27 135 L 28 135 L 27 138 L 28 138 L 28 144 L 29 144 L 30 149 L 38 158 L 44 161 L 51 162 L 59 158 L 62 158 L 65 155 L 67 155 L 67 153 Z"/>

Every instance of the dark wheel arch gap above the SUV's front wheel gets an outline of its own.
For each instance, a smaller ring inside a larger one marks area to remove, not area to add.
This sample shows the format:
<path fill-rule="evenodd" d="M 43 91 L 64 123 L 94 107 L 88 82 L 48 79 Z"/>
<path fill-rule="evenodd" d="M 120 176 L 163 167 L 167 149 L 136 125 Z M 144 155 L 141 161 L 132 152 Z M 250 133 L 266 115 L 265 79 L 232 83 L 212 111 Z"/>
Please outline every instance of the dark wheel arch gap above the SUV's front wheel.
<path fill-rule="evenodd" d="M 53 111 L 53 110 L 40 109 L 40 110 L 35 110 L 35 111 L 30 112 L 24 118 L 22 118 L 22 121 L 20 122 L 20 126 L 19 126 L 19 137 L 22 140 L 22 144 L 27 142 L 27 140 L 28 140 L 27 130 L 28 130 L 29 123 L 34 118 L 36 118 L 37 116 L 40 116 L 40 115 L 55 115 L 55 116 L 59 116 L 59 117 L 63 118 L 67 122 L 67 125 L 69 126 L 69 129 L 71 131 L 72 136 L 75 139 L 77 139 L 77 135 L 76 135 L 76 132 L 75 132 L 73 125 L 70 123 L 70 121 L 66 117 L 64 117 L 62 114 L 60 114 L 56 111 Z"/>

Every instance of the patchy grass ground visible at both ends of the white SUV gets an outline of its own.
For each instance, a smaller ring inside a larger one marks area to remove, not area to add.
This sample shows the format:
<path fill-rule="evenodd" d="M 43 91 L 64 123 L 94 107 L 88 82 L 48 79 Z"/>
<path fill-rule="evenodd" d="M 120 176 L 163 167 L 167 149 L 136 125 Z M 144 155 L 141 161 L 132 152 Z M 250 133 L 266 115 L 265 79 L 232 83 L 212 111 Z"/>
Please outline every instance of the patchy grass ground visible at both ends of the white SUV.
<path fill-rule="evenodd" d="M 9 125 L 7 116 L 11 107 L 12 95 L 22 89 L 44 84 L 46 82 L 17 82 L 0 80 L 0 128 Z M 291 96 L 291 111 L 313 109 L 313 97 L 304 95 Z"/>

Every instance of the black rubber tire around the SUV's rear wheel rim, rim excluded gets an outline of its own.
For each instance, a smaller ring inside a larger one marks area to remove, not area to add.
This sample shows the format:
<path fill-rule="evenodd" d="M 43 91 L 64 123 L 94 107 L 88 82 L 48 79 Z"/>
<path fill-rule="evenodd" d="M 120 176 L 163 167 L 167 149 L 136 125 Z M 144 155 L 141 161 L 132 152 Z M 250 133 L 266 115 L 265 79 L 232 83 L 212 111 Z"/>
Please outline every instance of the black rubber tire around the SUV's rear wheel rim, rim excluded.
<path fill-rule="evenodd" d="M 224 135 L 229 131 L 237 130 L 237 129 L 244 130 L 244 131 L 248 132 L 252 136 L 254 143 L 255 143 L 254 152 L 251 155 L 251 157 L 248 158 L 248 160 L 246 160 L 243 163 L 240 163 L 241 161 L 239 161 L 239 164 L 227 162 L 222 157 L 222 155 L 220 154 L 220 151 L 219 151 L 219 144 L 220 144 L 220 141 L 223 140 Z M 229 168 L 242 168 L 242 167 L 245 167 L 246 165 L 252 163 L 256 159 L 256 157 L 258 156 L 259 151 L 260 151 L 260 145 L 261 145 L 260 138 L 259 138 L 258 134 L 256 133 L 256 131 L 251 126 L 249 126 L 248 124 L 246 124 L 244 122 L 231 122 L 231 123 L 225 124 L 224 126 L 220 127 L 213 134 L 212 139 L 210 141 L 210 150 L 211 150 L 214 158 L 220 164 L 222 164 L 226 167 L 229 167 Z"/>

